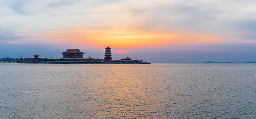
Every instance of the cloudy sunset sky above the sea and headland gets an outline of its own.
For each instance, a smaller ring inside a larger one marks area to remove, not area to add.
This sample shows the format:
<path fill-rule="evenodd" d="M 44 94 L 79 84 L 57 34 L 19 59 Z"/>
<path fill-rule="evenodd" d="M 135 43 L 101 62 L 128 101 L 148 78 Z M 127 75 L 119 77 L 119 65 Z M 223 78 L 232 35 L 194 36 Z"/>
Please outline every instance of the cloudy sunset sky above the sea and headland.
<path fill-rule="evenodd" d="M 0 58 L 256 61 L 255 0 L 0 0 Z"/>

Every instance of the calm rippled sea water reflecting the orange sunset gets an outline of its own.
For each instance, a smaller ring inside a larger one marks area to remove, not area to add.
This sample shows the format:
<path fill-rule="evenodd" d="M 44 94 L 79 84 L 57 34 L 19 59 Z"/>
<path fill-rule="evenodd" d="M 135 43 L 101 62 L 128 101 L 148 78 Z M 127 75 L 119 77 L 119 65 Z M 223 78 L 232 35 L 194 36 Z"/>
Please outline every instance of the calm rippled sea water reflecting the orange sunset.
<path fill-rule="evenodd" d="M 256 64 L 0 64 L 0 119 L 256 119 Z"/>

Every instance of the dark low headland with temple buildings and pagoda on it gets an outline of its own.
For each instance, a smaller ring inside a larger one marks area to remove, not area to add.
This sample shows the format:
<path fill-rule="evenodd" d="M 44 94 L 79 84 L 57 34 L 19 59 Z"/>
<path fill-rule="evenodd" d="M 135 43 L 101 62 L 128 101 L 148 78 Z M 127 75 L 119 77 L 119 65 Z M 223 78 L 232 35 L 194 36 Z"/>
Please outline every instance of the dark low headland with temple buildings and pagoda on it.
<path fill-rule="evenodd" d="M 18 63 L 53 63 L 53 64 L 151 64 L 143 60 L 132 60 L 129 56 L 120 60 L 113 60 L 111 48 L 107 46 L 105 48 L 105 57 L 103 59 L 84 58 L 84 52 L 79 49 L 67 49 L 62 52 L 63 58 L 60 59 L 48 59 L 39 58 L 40 55 L 34 55 L 34 58 L 20 58 Z"/>

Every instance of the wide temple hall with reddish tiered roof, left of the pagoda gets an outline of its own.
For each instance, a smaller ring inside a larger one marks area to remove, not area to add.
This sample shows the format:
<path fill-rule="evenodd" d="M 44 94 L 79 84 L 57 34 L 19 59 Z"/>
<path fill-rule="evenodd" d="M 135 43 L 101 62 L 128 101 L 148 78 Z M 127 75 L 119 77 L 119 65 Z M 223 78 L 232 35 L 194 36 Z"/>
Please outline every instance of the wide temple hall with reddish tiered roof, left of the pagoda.
<path fill-rule="evenodd" d="M 67 49 L 66 52 L 62 52 L 63 58 L 66 59 L 83 59 L 83 52 L 79 49 Z"/>

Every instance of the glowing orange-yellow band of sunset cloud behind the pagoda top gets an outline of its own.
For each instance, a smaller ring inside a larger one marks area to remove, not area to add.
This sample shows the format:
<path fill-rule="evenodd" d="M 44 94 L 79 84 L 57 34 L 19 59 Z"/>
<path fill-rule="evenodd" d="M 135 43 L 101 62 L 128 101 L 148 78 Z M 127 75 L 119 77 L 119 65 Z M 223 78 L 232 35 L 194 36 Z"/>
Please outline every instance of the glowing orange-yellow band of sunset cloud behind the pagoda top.
<path fill-rule="evenodd" d="M 111 45 L 111 47 L 115 48 L 187 45 L 220 41 L 220 39 L 207 34 L 137 31 L 129 29 L 47 31 L 34 35 L 49 39 L 50 42 L 67 42 L 70 44 L 95 47 Z"/>

